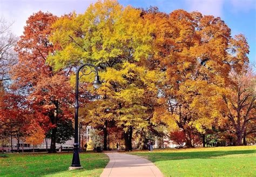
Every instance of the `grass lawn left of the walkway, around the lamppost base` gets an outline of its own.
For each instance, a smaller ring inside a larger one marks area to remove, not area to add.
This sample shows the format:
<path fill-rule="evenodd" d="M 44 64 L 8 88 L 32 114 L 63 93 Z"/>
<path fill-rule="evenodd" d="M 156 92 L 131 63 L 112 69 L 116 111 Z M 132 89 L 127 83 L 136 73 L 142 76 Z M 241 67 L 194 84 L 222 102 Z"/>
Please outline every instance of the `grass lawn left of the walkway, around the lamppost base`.
<path fill-rule="evenodd" d="M 103 153 L 80 153 L 84 169 L 68 171 L 73 153 L 0 154 L 0 176 L 99 176 L 109 162 Z"/>

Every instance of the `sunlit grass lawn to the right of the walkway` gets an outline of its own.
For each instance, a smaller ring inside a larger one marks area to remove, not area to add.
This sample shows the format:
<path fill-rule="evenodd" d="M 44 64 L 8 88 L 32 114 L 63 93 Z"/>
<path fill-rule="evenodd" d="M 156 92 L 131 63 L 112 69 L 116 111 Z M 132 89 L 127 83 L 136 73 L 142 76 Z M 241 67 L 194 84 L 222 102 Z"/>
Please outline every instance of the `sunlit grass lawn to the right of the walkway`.
<path fill-rule="evenodd" d="M 132 152 L 165 176 L 256 176 L 256 146 Z"/>

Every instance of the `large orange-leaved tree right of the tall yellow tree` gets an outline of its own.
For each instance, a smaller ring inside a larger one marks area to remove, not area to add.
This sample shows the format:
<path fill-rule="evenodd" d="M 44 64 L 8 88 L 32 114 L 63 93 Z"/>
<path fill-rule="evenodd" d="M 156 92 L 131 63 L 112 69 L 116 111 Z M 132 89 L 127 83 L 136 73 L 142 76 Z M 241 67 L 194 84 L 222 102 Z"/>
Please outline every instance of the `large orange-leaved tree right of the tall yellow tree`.
<path fill-rule="evenodd" d="M 166 76 L 160 87 L 166 99 L 163 106 L 191 147 L 191 133 L 204 133 L 221 117 L 217 93 L 229 83 L 231 69 L 248 62 L 247 42 L 242 35 L 232 38 L 219 17 L 200 12 L 166 14 L 150 9 L 143 17 L 156 26 L 153 60 Z"/>

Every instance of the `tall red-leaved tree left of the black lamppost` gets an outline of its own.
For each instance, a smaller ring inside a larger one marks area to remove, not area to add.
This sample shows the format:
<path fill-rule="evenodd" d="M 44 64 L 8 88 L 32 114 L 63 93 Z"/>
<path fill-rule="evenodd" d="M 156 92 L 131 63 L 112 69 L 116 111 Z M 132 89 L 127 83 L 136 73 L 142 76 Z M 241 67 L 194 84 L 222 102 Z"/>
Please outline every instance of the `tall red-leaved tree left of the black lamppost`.
<path fill-rule="evenodd" d="M 32 113 L 45 132 L 51 131 L 50 153 L 56 152 L 57 123 L 71 118 L 72 88 L 64 71 L 53 71 L 46 63 L 54 47 L 48 37 L 57 19 L 51 13 L 37 12 L 29 17 L 18 41 L 18 64 L 12 68 L 14 87 L 24 92 Z"/>

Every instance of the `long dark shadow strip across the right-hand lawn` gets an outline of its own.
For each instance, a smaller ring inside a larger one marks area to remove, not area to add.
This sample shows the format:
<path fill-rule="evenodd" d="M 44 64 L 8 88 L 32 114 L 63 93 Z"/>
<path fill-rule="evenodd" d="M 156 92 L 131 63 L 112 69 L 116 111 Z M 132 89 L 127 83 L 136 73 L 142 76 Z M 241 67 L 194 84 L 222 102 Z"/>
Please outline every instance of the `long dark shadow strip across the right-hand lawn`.
<path fill-rule="evenodd" d="M 225 155 L 252 154 L 256 150 L 242 151 L 199 151 L 199 152 L 157 152 L 157 153 L 132 153 L 134 155 L 144 156 L 152 162 L 163 160 L 181 160 L 181 159 L 209 159 Z"/>

